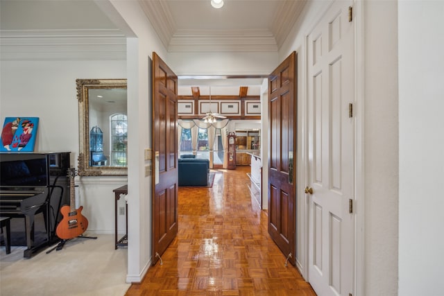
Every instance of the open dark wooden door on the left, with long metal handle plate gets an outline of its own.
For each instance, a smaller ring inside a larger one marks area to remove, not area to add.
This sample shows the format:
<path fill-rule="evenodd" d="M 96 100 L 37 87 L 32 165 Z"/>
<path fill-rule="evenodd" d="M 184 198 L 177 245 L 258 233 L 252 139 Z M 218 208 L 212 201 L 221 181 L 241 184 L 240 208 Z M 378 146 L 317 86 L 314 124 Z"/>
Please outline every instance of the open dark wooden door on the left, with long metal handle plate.
<path fill-rule="evenodd" d="M 153 53 L 153 264 L 178 233 L 178 78 Z"/>

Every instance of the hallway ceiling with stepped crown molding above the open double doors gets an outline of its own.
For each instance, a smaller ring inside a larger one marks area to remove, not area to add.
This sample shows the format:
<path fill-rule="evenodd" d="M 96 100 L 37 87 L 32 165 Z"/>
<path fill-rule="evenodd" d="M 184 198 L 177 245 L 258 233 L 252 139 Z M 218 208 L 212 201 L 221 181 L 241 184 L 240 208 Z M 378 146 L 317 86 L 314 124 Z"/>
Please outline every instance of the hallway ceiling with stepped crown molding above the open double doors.
<path fill-rule="evenodd" d="M 278 51 L 296 23 L 303 0 L 141 0 L 170 51 Z"/>

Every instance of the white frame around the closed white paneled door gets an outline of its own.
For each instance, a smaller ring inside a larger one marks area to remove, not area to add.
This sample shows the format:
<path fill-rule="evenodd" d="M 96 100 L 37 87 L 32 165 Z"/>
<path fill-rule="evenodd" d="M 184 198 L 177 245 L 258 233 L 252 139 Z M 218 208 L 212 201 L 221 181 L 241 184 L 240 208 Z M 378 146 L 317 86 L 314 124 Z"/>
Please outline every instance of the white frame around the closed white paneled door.
<path fill-rule="evenodd" d="M 301 92 L 305 100 L 300 100 L 300 116 L 302 120 L 302 139 L 301 139 L 301 157 L 303 171 L 300 173 L 300 184 L 298 186 L 298 196 L 304 196 L 305 200 L 304 209 L 298 211 L 302 214 L 302 220 L 304 221 L 303 233 L 299 236 L 300 239 L 305 241 L 302 254 L 305 259 L 298 261 L 300 265 L 298 267 L 301 269 L 302 276 L 305 279 L 309 278 L 308 275 L 308 258 L 309 258 L 309 203 L 308 198 L 304 192 L 305 185 L 308 180 L 308 44 L 307 37 L 309 33 L 314 29 L 316 24 L 322 19 L 325 12 L 330 8 L 330 5 L 326 6 L 320 13 L 320 17 L 313 21 L 309 26 L 309 30 L 305 33 L 303 49 L 304 52 L 301 54 L 302 59 L 302 78 L 300 81 L 302 85 Z M 353 205 L 355 212 L 355 295 L 364 295 L 364 5 L 362 1 L 353 1 L 353 22 L 355 25 L 355 101 L 356 104 L 353 106 L 354 116 L 356 116 L 356 134 L 355 134 L 355 155 L 356 155 L 356 176 L 355 176 L 355 204 Z M 300 219 L 298 219 L 300 220 Z"/>

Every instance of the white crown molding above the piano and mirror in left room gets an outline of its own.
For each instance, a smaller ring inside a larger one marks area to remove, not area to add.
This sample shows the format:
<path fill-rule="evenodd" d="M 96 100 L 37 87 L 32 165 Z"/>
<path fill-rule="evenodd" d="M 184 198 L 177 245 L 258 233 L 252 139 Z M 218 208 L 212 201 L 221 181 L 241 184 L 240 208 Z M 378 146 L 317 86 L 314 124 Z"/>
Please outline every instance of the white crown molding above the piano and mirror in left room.
<path fill-rule="evenodd" d="M 126 60 L 118 30 L 0 31 L 0 60 Z"/>

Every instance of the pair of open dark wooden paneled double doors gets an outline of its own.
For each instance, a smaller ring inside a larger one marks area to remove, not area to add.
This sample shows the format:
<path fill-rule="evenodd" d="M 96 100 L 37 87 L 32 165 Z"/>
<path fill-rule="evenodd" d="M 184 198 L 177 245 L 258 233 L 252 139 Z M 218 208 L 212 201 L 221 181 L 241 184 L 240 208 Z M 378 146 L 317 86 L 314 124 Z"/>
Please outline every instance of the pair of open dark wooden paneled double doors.
<path fill-rule="evenodd" d="M 153 264 L 178 232 L 178 78 L 153 53 Z M 296 53 L 268 78 L 268 233 L 295 263 Z M 289 256 L 291 255 L 291 256 Z"/>

